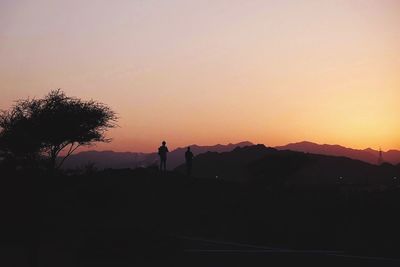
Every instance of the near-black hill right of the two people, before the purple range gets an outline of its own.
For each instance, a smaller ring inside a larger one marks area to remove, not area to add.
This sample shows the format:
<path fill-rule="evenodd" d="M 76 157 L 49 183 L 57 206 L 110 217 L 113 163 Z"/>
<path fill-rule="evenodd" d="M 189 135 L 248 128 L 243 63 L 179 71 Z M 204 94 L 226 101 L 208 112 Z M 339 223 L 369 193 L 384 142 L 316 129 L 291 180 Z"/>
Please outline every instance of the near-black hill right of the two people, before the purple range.
<path fill-rule="evenodd" d="M 185 166 L 177 171 L 184 172 Z M 193 175 L 229 181 L 262 181 L 267 184 L 390 184 L 400 177 L 398 166 L 372 165 L 346 157 L 317 155 L 264 145 L 207 152 L 195 157 Z"/>

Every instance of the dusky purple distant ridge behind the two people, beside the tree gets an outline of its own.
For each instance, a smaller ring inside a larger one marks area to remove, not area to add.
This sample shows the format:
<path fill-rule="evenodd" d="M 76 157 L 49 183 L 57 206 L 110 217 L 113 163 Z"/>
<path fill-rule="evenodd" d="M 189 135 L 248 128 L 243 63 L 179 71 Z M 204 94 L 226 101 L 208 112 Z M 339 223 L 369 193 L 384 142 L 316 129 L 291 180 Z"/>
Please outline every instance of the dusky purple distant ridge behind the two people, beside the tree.
<path fill-rule="evenodd" d="M 237 144 L 198 146 L 191 145 L 191 150 L 196 156 L 208 151 L 211 152 L 227 152 L 236 147 L 245 147 L 253 145 L 250 142 L 240 142 Z M 168 153 L 168 169 L 174 169 L 184 163 L 186 147 L 179 147 Z M 158 164 L 157 153 L 135 153 L 135 152 L 114 152 L 114 151 L 84 151 L 71 155 L 64 164 L 65 169 L 80 168 L 88 163 L 93 163 L 99 169 L 113 168 L 137 168 L 147 167 Z"/>

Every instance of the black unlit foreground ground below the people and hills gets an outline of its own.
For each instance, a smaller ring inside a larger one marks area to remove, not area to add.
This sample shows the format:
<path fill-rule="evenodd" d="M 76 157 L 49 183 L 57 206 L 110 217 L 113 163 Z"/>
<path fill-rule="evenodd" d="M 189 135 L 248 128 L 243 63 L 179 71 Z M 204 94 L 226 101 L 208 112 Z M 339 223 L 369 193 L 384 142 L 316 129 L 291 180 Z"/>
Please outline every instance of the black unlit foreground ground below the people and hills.
<path fill-rule="evenodd" d="M 154 170 L 2 177 L 0 266 L 400 266 L 400 192 Z"/>

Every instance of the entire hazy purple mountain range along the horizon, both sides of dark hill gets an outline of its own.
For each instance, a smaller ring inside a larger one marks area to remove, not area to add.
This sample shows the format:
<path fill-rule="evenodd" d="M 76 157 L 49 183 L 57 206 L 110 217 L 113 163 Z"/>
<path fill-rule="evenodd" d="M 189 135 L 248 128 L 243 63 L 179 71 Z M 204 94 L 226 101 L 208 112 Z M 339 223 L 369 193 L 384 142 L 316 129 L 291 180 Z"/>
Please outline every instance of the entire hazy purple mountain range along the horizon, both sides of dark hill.
<path fill-rule="evenodd" d="M 214 146 L 198 146 L 191 145 L 193 154 L 199 155 L 206 152 L 229 152 L 236 147 L 251 146 L 253 143 L 245 141 L 236 144 L 214 145 Z M 371 148 L 358 150 L 346 148 L 339 145 L 316 144 L 312 142 L 292 143 L 285 146 L 275 147 L 277 150 L 292 150 L 298 152 L 340 156 L 355 160 L 361 160 L 370 164 L 377 164 L 379 159 L 379 151 Z M 174 169 L 184 163 L 184 153 L 186 147 L 180 147 L 171 151 L 168 155 L 168 169 Z M 391 164 L 400 163 L 400 151 L 389 150 L 382 152 L 383 160 Z M 140 152 L 114 152 L 114 151 L 85 151 L 72 155 L 66 162 L 65 168 L 74 169 L 93 163 L 99 169 L 105 168 L 136 168 L 147 167 L 158 164 L 157 153 L 140 153 Z"/>

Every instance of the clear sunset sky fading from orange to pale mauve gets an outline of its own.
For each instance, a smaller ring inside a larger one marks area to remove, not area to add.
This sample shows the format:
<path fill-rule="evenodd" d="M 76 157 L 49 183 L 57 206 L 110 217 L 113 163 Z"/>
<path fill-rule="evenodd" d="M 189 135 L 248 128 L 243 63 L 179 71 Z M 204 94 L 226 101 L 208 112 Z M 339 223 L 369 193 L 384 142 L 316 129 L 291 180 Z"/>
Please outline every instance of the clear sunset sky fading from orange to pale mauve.
<path fill-rule="evenodd" d="M 400 149 L 400 1 L 0 0 L 0 109 L 55 88 L 118 113 L 91 149 Z"/>

